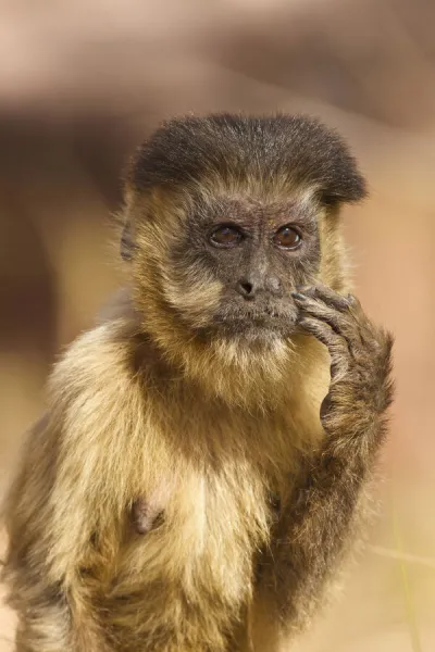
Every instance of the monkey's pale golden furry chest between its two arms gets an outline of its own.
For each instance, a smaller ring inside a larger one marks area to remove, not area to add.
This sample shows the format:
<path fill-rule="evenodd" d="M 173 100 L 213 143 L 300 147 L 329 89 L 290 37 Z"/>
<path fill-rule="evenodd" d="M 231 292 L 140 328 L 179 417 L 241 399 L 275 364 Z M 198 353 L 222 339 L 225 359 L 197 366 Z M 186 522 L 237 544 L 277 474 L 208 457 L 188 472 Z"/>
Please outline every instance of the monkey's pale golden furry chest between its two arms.
<path fill-rule="evenodd" d="M 178 606 L 210 600 L 232 613 L 251 593 L 259 550 L 270 539 L 274 478 L 264 460 L 277 449 L 286 461 L 288 428 L 277 430 L 275 421 L 259 431 L 259 419 L 247 426 L 246 417 L 219 414 L 206 421 L 198 410 L 178 414 L 185 422 L 176 429 L 172 418 L 154 423 L 144 456 L 129 456 L 128 531 L 111 595 L 126 598 L 133 584 L 128 609 L 138 612 L 166 592 L 183 597 Z"/>

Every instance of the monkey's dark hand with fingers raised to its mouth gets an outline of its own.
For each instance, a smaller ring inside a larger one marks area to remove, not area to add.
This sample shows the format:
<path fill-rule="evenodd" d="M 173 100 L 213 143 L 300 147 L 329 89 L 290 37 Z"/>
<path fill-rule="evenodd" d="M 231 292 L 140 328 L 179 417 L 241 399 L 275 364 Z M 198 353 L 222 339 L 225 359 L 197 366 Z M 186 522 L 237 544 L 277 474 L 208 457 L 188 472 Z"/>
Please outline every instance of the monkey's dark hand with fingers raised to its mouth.
<path fill-rule="evenodd" d="M 345 437 L 346 443 L 363 444 L 369 453 L 378 443 L 373 437 L 383 434 L 378 421 L 391 400 L 393 338 L 370 322 L 352 294 L 343 297 L 314 286 L 293 296 L 300 311 L 299 325 L 324 343 L 331 355 L 322 425 L 328 435 L 337 436 L 337 447 L 345 443 Z M 364 441 L 356 441 L 361 438 Z"/>

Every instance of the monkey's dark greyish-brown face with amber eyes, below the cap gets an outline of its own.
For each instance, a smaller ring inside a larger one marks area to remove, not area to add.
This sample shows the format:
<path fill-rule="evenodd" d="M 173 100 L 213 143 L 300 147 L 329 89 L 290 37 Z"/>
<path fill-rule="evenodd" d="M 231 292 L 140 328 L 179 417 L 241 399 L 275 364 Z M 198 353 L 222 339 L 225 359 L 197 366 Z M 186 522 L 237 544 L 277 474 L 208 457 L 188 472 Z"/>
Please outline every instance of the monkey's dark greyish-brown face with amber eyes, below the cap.
<path fill-rule="evenodd" d="M 320 265 L 318 220 L 308 192 L 194 201 L 166 261 L 167 302 L 202 337 L 289 337 L 297 317 L 291 291 L 312 283 Z"/>

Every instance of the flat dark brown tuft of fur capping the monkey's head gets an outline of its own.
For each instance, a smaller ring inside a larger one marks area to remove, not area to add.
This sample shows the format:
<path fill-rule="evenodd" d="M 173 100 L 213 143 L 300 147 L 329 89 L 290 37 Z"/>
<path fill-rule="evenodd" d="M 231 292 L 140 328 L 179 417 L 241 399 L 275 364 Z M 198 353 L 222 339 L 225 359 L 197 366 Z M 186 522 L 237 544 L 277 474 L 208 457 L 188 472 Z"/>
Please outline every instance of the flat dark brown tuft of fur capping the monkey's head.
<path fill-rule="evenodd" d="M 325 204 L 355 202 L 366 195 L 345 140 L 303 115 L 215 114 L 169 121 L 138 149 L 128 180 L 142 190 L 216 175 L 287 178 L 318 188 Z"/>

